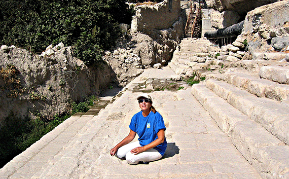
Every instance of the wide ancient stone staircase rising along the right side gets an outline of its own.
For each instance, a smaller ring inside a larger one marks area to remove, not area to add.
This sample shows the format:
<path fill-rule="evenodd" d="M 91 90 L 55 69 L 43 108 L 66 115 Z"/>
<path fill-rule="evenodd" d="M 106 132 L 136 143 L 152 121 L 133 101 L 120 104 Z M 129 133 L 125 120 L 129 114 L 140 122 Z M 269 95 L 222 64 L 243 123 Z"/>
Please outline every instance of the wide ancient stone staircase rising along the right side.
<path fill-rule="evenodd" d="M 183 42 L 171 69 L 183 77 L 194 71 L 206 78 L 192 86 L 192 94 L 263 178 L 289 178 L 288 63 L 254 58 L 196 62 L 191 59 L 199 55 L 198 47 Z"/>

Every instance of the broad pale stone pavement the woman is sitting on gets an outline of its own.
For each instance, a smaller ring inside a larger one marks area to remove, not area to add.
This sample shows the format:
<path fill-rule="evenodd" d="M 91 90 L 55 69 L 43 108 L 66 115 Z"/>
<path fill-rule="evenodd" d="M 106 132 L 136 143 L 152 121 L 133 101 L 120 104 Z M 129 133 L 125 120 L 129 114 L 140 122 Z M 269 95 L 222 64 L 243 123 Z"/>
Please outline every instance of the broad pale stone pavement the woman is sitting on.
<path fill-rule="evenodd" d="M 171 75 L 169 67 L 144 70 L 98 115 L 70 117 L 0 169 L 0 178 L 261 178 L 187 85 L 176 92 L 150 93 L 167 126 L 162 159 L 129 165 L 110 156 L 139 111 L 136 96 L 141 91 L 134 87 Z"/>

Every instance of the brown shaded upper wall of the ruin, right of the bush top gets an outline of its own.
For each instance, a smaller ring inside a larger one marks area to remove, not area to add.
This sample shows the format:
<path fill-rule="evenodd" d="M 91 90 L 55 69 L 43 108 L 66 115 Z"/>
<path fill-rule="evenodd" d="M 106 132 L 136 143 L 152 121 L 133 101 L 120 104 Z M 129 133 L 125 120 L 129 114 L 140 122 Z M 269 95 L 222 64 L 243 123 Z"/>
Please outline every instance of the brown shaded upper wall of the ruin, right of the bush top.
<path fill-rule="evenodd" d="M 164 0 L 154 6 L 138 6 L 132 19 L 131 32 L 150 33 L 154 29 L 169 28 L 178 20 L 179 14 L 180 0 Z"/>

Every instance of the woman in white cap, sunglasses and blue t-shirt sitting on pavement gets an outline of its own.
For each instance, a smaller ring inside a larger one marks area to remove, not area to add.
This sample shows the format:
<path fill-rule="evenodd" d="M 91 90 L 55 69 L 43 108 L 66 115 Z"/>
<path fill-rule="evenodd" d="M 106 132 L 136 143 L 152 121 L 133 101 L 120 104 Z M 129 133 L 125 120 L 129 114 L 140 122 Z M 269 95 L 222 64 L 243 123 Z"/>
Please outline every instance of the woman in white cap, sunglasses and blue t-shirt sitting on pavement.
<path fill-rule="evenodd" d="M 132 117 L 129 134 L 111 149 L 111 155 L 125 158 L 129 164 L 158 160 L 167 148 L 164 120 L 152 106 L 151 96 L 142 94 L 136 99 L 141 111 Z M 138 141 L 131 142 L 136 133 L 139 136 Z"/>

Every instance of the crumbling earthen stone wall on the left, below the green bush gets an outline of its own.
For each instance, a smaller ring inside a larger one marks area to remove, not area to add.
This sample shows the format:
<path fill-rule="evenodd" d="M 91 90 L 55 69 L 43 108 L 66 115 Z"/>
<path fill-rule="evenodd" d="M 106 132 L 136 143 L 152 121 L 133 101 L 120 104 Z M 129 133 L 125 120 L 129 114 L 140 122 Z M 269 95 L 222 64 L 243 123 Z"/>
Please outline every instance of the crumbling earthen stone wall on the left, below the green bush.
<path fill-rule="evenodd" d="M 52 119 L 116 79 L 109 65 L 87 66 L 62 43 L 42 55 L 3 45 L 0 59 L 0 126 L 7 117 Z"/>

